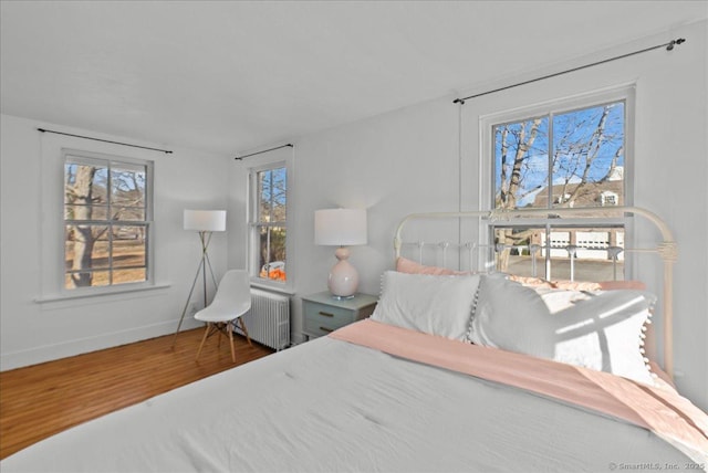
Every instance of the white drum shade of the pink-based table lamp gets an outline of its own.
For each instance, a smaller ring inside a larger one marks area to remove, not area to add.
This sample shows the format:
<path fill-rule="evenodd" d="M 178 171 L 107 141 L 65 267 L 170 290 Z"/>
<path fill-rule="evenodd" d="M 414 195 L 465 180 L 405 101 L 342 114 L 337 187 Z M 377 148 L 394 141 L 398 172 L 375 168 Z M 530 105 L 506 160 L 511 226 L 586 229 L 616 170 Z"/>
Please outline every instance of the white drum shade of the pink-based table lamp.
<path fill-rule="evenodd" d="M 314 243 L 331 246 L 366 244 L 366 209 L 316 210 Z"/>

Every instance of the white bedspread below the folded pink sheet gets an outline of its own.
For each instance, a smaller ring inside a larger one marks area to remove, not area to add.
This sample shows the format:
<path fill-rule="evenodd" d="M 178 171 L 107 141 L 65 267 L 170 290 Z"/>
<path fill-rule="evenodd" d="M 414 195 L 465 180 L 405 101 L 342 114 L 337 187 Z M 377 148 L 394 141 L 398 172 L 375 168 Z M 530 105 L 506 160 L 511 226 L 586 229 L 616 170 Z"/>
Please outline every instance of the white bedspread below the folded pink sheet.
<path fill-rule="evenodd" d="M 645 429 L 330 337 L 79 425 L 0 462 L 3 473 L 697 466 Z"/>

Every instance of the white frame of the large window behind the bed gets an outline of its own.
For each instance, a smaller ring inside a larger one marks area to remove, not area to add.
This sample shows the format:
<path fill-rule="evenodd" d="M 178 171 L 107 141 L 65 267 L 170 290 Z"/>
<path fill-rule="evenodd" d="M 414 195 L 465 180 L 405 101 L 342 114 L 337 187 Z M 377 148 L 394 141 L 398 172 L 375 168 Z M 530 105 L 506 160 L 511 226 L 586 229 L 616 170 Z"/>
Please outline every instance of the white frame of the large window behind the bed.
<path fill-rule="evenodd" d="M 635 95 L 636 88 L 634 84 L 616 86 L 603 91 L 596 91 L 586 94 L 579 94 L 571 97 L 558 98 L 541 104 L 512 108 L 500 113 L 489 114 L 480 117 L 479 132 L 480 132 L 480 167 L 479 167 L 479 182 L 480 182 L 480 206 L 482 209 L 494 210 L 494 197 L 496 197 L 496 139 L 494 127 L 503 124 L 518 123 L 529 120 L 541 116 L 553 116 L 574 111 L 581 111 L 594 106 L 602 106 L 615 102 L 624 102 L 624 204 L 634 204 L 634 175 L 635 175 Z M 550 172 L 550 170 L 549 170 Z M 552 186 L 549 185 L 551 189 Z M 549 195 L 551 190 L 549 190 Z M 549 213 L 552 213 L 552 199 L 549 198 Z M 597 206 L 597 209 L 603 207 Z M 541 209 L 542 210 L 542 209 Z M 494 233 L 497 228 L 533 228 L 539 227 L 538 219 L 529 219 L 528 222 L 522 224 L 494 224 L 493 222 L 480 221 L 480 239 L 486 242 L 487 245 L 494 243 Z M 634 240 L 633 220 L 628 216 L 618 216 L 612 218 L 581 218 L 581 219 L 559 219 L 558 223 L 550 224 L 544 223 L 545 231 L 550 234 L 553 228 L 582 228 L 582 227 L 598 227 L 598 228 L 624 228 L 624 241 L 627 246 L 632 245 Z M 550 252 L 546 251 L 546 255 L 542 265 L 544 267 L 544 274 L 540 274 L 541 277 L 546 277 L 550 267 Z M 632 277 L 632 260 L 624 260 L 624 277 Z M 552 277 L 551 273 L 551 277 Z"/>

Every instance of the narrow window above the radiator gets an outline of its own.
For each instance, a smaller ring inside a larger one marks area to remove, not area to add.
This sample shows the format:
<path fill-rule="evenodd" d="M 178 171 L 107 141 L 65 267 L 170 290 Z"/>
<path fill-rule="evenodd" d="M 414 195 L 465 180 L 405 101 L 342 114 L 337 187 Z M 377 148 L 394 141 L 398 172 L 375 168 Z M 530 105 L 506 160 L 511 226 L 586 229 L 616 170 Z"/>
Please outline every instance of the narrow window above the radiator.
<path fill-rule="evenodd" d="M 288 170 L 284 164 L 250 172 L 252 196 L 251 267 L 261 281 L 288 281 Z"/>

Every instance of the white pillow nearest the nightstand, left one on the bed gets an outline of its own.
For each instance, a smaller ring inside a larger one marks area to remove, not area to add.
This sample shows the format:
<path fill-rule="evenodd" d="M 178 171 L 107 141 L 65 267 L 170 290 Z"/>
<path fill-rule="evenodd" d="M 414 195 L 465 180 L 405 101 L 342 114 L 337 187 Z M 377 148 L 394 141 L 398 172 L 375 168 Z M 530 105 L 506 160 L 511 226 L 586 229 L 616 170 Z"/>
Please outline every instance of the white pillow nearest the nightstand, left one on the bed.
<path fill-rule="evenodd" d="M 438 276 L 386 271 L 372 319 L 464 340 L 479 275 Z"/>

